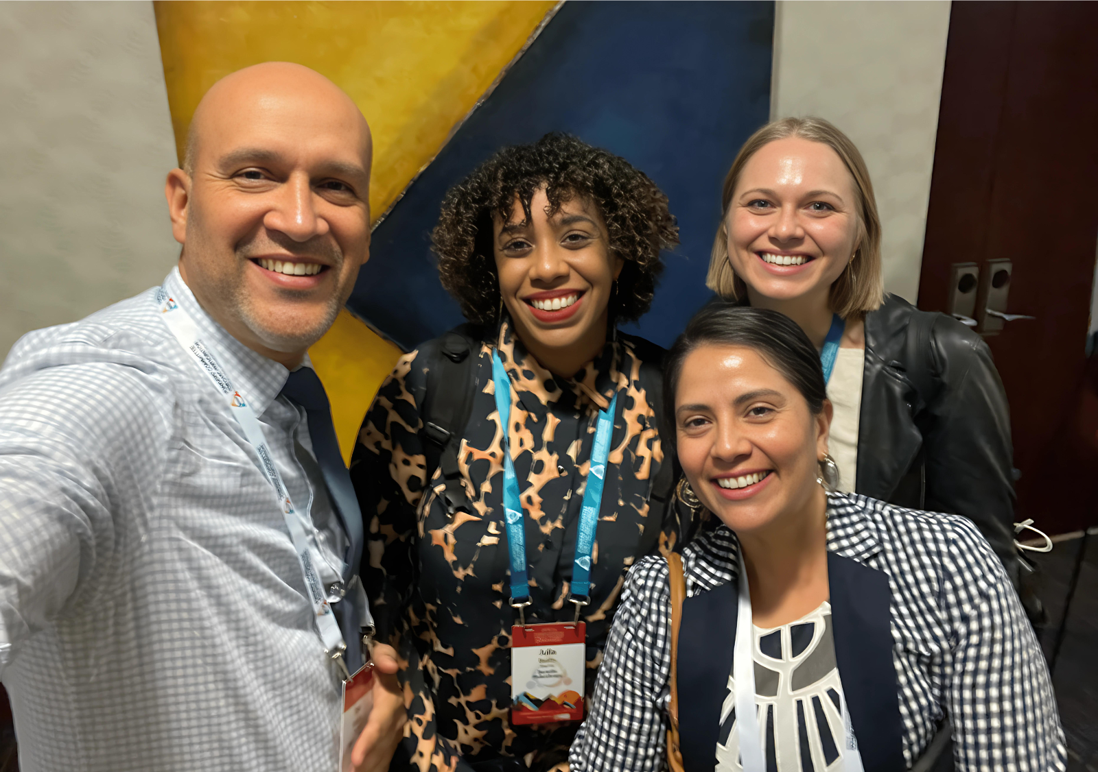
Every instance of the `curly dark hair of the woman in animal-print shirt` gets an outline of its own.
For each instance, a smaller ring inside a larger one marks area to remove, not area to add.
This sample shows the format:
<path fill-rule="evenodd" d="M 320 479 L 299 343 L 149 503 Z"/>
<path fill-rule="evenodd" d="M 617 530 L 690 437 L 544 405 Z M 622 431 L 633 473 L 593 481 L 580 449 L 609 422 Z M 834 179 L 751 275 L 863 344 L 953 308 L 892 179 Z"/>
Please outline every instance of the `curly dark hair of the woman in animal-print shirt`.
<path fill-rule="evenodd" d="M 507 222 L 517 194 L 528 220 L 530 201 L 541 185 L 550 216 L 575 196 L 598 206 L 609 231 L 610 253 L 625 260 L 609 318 L 636 321 L 643 316 L 663 271 L 660 250 L 679 243 L 668 197 L 624 158 L 556 132 L 533 145 L 503 148 L 447 191 L 432 248 L 442 286 L 461 304 L 461 313 L 479 325 L 496 323 L 500 280 L 492 215 Z"/>

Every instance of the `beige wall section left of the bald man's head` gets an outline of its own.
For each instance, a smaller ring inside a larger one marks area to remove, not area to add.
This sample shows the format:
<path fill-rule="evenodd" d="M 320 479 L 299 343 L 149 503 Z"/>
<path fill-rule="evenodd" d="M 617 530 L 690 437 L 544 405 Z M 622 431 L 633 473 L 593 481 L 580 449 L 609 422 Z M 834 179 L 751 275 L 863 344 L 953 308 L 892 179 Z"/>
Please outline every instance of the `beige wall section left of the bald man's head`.
<path fill-rule="evenodd" d="M 0 357 L 171 270 L 152 2 L 0 2 Z"/>

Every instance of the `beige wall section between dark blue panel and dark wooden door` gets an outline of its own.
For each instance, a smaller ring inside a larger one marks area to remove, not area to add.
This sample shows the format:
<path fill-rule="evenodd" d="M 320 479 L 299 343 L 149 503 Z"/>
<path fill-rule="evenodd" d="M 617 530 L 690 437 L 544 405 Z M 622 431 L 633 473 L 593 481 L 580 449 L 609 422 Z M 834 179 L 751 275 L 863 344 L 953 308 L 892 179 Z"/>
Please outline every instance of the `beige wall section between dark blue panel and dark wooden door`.
<path fill-rule="evenodd" d="M 884 224 L 885 288 L 914 302 L 950 3 L 780 0 L 772 117 L 819 115 L 854 140 Z"/>

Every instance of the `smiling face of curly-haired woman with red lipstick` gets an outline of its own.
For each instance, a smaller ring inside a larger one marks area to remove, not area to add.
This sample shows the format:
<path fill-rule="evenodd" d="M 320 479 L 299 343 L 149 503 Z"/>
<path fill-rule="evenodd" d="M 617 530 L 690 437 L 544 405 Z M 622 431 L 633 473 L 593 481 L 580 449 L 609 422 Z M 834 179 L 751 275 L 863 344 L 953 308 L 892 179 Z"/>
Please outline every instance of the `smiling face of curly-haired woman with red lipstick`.
<path fill-rule="evenodd" d="M 591 201 L 573 197 L 551 217 L 548 208 L 542 188 L 530 201 L 529 222 L 517 196 L 506 223 L 493 216 L 495 266 L 526 348 L 570 376 L 605 343 L 610 290 L 624 263 L 610 256 L 606 223 Z"/>

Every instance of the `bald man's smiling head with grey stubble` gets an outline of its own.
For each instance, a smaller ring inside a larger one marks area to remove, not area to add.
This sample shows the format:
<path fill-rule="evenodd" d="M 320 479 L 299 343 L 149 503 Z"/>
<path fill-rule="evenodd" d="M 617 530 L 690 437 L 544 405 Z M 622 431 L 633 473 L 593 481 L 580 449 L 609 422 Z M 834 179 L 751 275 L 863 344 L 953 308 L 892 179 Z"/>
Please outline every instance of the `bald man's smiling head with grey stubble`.
<path fill-rule="evenodd" d="M 180 272 L 231 334 L 293 366 L 368 258 L 369 128 L 327 79 L 269 64 L 211 89 L 193 130 L 167 185 Z"/>

